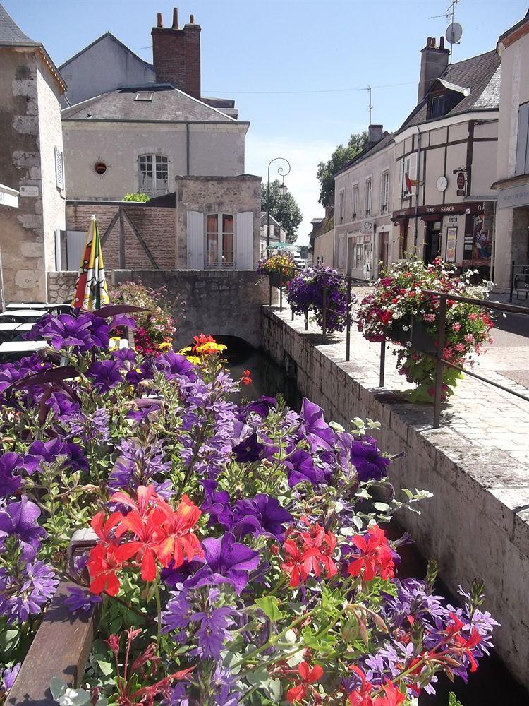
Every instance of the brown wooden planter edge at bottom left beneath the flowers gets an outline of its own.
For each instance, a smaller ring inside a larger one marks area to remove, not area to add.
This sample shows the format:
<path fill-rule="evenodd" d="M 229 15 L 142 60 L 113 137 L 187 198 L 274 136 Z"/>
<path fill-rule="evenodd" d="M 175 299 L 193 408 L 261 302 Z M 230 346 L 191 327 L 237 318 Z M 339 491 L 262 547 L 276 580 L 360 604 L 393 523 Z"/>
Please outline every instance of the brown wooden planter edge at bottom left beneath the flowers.
<path fill-rule="evenodd" d="M 51 706 L 51 677 L 58 676 L 67 686 L 79 686 L 92 650 L 99 611 L 73 615 L 64 604 L 68 587 L 61 581 L 42 623 L 31 643 L 18 676 L 9 691 L 6 705 Z"/>

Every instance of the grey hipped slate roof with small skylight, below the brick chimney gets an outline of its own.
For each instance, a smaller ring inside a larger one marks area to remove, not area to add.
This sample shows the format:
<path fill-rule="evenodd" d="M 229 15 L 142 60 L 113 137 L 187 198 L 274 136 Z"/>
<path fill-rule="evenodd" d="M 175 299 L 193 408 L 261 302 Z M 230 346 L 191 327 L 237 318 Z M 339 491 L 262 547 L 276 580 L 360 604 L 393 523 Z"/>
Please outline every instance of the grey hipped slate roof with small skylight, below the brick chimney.
<path fill-rule="evenodd" d="M 152 94 L 152 100 L 135 100 L 138 92 Z M 219 109 L 187 95 L 170 83 L 116 88 L 62 111 L 68 120 L 205 121 L 244 125 Z"/>

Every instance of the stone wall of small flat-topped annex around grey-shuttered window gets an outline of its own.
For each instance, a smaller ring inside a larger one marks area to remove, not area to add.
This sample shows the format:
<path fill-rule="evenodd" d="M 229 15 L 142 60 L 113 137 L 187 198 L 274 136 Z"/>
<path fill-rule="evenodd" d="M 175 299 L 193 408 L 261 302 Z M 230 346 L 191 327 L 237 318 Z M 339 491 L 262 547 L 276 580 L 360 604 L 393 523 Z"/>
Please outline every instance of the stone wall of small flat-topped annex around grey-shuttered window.
<path fill-rule="evenodd" d="M 176 268 L 188 267 L 187 212 L 253 213 L 253 268 L 260 258 L 261 177 L 176 178 Z M 235 234 L 237 238 L 237 234 Z"/>

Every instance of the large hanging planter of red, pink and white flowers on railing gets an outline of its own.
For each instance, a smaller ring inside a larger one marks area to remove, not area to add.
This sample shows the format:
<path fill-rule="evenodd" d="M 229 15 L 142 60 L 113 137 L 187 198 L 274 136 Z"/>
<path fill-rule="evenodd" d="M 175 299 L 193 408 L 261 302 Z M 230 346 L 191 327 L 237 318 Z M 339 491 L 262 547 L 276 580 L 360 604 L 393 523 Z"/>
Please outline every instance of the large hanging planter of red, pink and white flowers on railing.
<path fill-rule="evenodd" d="M 469 271 L 458 276 L 454 266 L 441 258 L 430 265 L 418 260 L 394 263 L 377 280 L 375 293 L 365 297 L 358 307 L 358 329 L 367 340 L 391 340 L 402 346 L 397 354 L 397 368 L 408 382 L 415 383 L 411 393 L 415 402 L 433 402 L 436 363 L 431 354 L 437 353 L 439 330 L 439 297 L 421 290 L 482 299 L 486 287 L 470 285 L 473 274 Z M 492 342 L 492 326 L 490 311 L 447 299 L 444 359 L 461 367 L 471 363 L 471 356 L 480 354 L 485 342 Z M 444 367 L 445 398 L 454 393 L 459 378 L 461 373 Z"/>

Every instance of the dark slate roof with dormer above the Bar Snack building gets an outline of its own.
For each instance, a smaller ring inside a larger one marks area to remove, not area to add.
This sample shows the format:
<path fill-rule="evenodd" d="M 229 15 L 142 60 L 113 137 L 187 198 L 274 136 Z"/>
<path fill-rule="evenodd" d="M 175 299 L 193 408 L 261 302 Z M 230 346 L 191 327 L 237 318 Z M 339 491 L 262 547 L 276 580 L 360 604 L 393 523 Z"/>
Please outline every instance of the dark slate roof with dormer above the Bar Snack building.
<path fill-rule="evenodd" d="M 452 64 L 440 76 L 448 83 L 455 83 L 461 88 L 468 88 L 468 95 L 458 102 L 444 117 L 459 115 L 470 110 L 494 110 L 499 107 L 500 57 L 492 52 L 472 56 L 465 61 Z M 427 121 L 428 98 L 418 103 L 408 115 L 398 132 L 412 125 L 420 125 Z M 438 120 L 439 118 L 434 118 Z"/>

